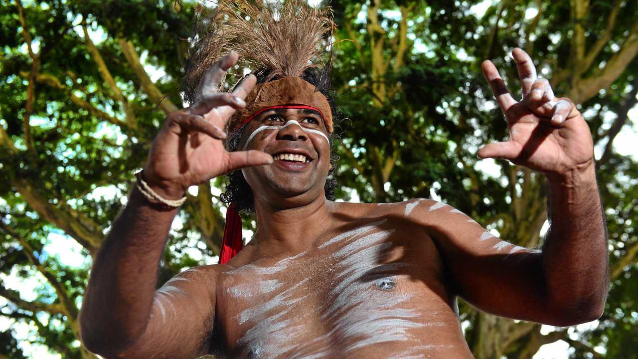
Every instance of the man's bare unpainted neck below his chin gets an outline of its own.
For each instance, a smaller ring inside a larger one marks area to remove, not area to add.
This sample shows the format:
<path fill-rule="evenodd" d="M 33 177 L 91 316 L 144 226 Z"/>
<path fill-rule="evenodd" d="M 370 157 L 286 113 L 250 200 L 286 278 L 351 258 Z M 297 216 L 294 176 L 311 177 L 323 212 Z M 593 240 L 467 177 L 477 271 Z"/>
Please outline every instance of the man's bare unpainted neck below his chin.
<path fill-rule="evenodd" d="M 297 253 L 306 250 L 323 233 L 332 211 L 332 201 L 325 196 L 292 208 L 273 208 L 264 202 L 255 201 L 257 231 L 253 240 L 267 252 Z M 275 252 L 276 251 L 276 252 Z"/>

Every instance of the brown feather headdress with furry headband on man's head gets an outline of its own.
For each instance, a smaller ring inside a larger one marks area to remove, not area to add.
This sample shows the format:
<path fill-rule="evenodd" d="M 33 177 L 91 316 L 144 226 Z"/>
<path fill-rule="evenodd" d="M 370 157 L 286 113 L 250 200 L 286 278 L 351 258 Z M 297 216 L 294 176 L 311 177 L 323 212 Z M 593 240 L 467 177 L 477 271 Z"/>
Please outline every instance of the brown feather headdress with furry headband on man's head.
<path fill-rule="evenodd" d="M 316 9 L 304 0 L 219 1 L 211 13 L 202 8 L 197 43 L 186 66 L 184 98 L 192 102 L 204 73 L 231 50 L 241 65 L 268 73 L 235 113 L 230 128 L 260 109 L 282 103 L 302 103 L 322 110 L 332 132 L 330 105 L 315 86 L 301 79 L 309 68 L 330 66 L 334 22 L 329 8 Z M 322 71 L 322 70 L 320 70 Z M 323 71 L 322 71 L 323 72 Z"/>

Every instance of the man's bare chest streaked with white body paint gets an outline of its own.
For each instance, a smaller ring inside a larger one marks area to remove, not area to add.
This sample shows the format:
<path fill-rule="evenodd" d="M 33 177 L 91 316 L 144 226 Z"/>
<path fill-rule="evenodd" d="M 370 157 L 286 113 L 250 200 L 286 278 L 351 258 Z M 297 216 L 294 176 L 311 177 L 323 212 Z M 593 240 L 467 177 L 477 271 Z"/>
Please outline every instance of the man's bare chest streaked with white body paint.
<path fill-rule="evenodd" d="M 424 333 L 457 325 L 432 267 L 438 264 L 427 263 L 427 254 L 416 263 L 399 244 L 405 234 L 382 224 L 224 273 L 216 325 L 226 351 L 248 358 L 347 357 L 380 344 L 419 346 Z"/>

